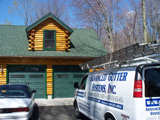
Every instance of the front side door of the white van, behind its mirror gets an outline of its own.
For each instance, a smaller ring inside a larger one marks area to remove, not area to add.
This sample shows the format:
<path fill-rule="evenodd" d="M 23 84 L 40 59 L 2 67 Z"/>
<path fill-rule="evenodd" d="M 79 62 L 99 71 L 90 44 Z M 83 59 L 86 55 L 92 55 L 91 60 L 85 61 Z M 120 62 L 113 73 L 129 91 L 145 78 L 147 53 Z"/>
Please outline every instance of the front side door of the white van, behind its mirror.
<path fill-rule="evenodd" d="M 87 100 L 87 80 L 88 80 L 88 75 L 86 75 L 79 86 L 79 89 L 77 91 L 77 103 L 78 103 L 78 107 L 79 107 L 79 111 L 85 115 L 89 115 L 90 114 L 90 104 L 88 103 Z"/>

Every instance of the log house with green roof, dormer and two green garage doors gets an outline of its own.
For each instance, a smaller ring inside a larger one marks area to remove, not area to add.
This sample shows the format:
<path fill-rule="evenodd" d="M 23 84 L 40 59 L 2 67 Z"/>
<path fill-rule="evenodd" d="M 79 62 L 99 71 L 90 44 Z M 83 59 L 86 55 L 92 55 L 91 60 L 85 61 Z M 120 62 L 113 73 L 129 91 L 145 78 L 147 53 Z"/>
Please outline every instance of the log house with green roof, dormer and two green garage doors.
<path fill-rule="evenodd" d="M 30 26 L 0 25 L 0 84 L 26 84 L 36 98 L 74 96 L 89 71 L 80 63 L 106 55 L 91 29 L 70 28 L 52 13 Z"/>

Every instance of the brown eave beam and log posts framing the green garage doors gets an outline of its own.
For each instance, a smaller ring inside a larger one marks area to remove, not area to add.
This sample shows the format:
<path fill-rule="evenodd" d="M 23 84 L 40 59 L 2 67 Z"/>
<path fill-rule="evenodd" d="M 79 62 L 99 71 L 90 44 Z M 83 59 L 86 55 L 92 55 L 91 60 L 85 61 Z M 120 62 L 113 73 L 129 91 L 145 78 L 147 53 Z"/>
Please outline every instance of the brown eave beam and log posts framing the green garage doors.
<path fill-rule="evenodd" d="M 52 94 L 52 65 L 79 65 L 89 61 L 90 59 L 23 59 L 23 58 L 3 58 L 0 59 L 0 84 L 7 82 L 6 65 L 46 65 L 47 66 L 47 94 Z"/>

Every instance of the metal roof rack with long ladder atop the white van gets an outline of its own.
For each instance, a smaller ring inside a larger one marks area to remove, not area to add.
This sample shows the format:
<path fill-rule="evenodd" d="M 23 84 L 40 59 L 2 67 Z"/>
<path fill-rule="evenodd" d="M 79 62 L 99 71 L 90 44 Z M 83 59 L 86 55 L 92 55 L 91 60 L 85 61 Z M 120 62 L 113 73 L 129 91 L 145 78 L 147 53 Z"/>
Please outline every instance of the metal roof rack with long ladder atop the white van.
<path fill-rule="evenodd" d="M 124 64 L 136 63 L 137 61 L 151 61 L 157 63 L 155 58 L 160 57 L 160 43 L 133 44 L 123 49 L 98 57 L 91 61 L 80 64 L 82 70 L 97 68 L 115 68 Z"/>

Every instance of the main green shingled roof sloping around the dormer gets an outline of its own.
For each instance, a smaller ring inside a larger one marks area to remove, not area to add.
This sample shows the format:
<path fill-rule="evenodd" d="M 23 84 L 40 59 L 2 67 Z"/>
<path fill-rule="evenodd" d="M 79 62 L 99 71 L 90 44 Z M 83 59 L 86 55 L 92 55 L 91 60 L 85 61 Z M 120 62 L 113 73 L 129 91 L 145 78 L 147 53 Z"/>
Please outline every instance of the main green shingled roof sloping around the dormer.
<path fill-rule="evenodd" d="M 0 57 L 84 58 L 100 57 L 107 51 L 92 29 L 75 29 L 70 36 L 71 50 L 29 51 L 27 26 L 0 25 Z"/>

